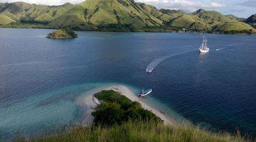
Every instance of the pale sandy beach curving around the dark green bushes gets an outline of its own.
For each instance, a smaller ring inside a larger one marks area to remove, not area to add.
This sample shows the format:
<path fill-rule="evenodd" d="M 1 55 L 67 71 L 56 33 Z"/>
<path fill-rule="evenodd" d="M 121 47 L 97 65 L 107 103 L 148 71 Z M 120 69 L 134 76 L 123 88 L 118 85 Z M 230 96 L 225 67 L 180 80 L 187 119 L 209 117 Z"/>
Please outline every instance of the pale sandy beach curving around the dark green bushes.
<path fill-rule="evenodd" d="M 164 120 L 164 124 L 174 124 L 174 120 L 169 118 L 169 116 L 166 116 L 166 114 L 161 113 L 160 108 L 156 109 L 153 106 L 147 104 L 146 102 L 144 102 L 143 98 L 137 97 L 137 95 L 134 94 L 134 92 L 132 92 L 132 90 L 130 90 L 128 87 L 125 87 L 123 85 L 112 85 L 109 87 L 97 88 L 89 94 L 82 95 L 82 97 L 78 99 L 78 105 L 84 108 L 82 111 L 82 120 L 80 120 L 82 126 L 90 126 L 92 124 L 93 116 L 91 115 L 91 113 L 98 105 L 98 100 L 93 97 L 94 94 L 102 90 L 110 89 L 123 94 L 125 97 L 132 100 L 133 102 L 139 102 L 140 104 L 142 104 L 142 107 L 144 109 L 151 111 L 152 113 L 156 114 L 156 116 L 159 116 L 160 119 Z"/>

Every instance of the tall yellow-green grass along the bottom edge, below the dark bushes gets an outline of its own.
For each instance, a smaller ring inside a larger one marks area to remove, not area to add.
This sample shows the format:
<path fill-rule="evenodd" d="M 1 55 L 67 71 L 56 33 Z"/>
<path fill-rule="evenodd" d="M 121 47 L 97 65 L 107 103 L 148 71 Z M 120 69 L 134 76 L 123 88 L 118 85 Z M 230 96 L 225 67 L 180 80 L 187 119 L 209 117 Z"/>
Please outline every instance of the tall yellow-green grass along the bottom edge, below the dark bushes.
<path fill-rule="evenodd" d="M 21 140 L 23 140 L 21 138 Z M 198 127 L 159 124 L 154 121 L 127 121 L 111 127 L 92 126 L 73 128 L 70 131 L 51 136 L 33 138 L 30 141 L 172 141 L 172 142 L 243 142 L 239 133 L 231 136 L 228 133 L 211 133 Z"/>

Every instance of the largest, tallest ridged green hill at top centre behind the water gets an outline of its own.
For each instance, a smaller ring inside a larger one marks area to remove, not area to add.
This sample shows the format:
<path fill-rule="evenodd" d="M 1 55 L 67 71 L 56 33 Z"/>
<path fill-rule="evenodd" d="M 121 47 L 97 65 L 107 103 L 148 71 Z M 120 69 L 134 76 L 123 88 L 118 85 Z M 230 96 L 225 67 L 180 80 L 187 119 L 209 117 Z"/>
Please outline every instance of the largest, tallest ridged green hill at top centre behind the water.
<path fill-rule="evenodd" d="M 132 28 L 140 29 L 145 26 L 161 26 L 163 22 L 153 16 L 145 5 L 132 0 L 87 0 L 68 13 L 55 19 L 50 26 L 71 26 L 84 30 L 88 26 L 95 28 Z M 156 11 L 155 11 L 156 12 Z M 68 20 L 68 21 L 67 21 Z M 66 21 L 66 23 L 63 23 Z M 62 25 L 60 25 L 62 24 Z"/>

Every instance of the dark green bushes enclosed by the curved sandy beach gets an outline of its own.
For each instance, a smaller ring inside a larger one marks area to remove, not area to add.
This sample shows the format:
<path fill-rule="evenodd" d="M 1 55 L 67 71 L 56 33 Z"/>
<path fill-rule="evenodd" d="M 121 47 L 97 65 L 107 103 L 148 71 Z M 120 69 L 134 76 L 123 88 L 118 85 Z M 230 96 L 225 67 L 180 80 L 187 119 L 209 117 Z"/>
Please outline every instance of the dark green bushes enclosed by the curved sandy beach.
<path fill-rule="evenodd" d="M 102 101 L 102 104 L 92 112 L 96 125 L 112 126 L 129 120 L 161 122 L 161 119 L 151 111 L 143 109 L 139 102 L 132 102 L 119 92 L 103 90 L 95 94 L 95 97 Z"/>

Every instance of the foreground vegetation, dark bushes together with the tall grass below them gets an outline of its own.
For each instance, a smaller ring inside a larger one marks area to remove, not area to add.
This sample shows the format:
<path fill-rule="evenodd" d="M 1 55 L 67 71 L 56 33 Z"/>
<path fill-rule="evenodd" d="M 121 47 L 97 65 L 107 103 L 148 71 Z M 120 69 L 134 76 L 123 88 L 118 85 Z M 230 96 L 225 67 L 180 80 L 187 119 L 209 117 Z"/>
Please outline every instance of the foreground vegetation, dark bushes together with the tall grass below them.
<path fill-rule="evenodd" d="M 151 111 L 144 110 L 112 90 L 95 94 L 101 104 L 95 112 L 95 124 L 90 127 L 71 126 L 69 131 L 51 133 L 38 138 L 17 137 L 14 141 L 173 141 L 173 142 L 242 142 L 239 133 L 213 133 L 190 124 L 164 125 Z M 146 114 L 146 115 L 144 115 Z"/>

